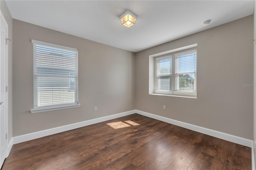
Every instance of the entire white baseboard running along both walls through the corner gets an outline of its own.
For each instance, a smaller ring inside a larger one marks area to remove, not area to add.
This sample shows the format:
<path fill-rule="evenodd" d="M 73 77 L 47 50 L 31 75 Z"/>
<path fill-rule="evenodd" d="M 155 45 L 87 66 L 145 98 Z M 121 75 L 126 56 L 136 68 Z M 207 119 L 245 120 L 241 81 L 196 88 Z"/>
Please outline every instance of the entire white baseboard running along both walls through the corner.
<path fill-rule="evenodd" d="M 33 139 L 36 139 L 36 138 L 41 138 L 41 137 L 44 137 L 44 136 L 48 136 L 48 135 L 52 135 L 52 134 L 56 134 L 56 133 L 60 133 L 60 132 L 65 132 L 65 131 L 72 130 L 72 129 L 75 129 L 75 128 L 80 128 L 80 127 L 92 125 L 92 124 L 95 124 L 95 123 L 108 121 L 108 120 L 111 120 L 111 119 L 116 119 L 118 117 L 123 117 L 123 116 L 131 115 L 131 114 L 134 114 L 134 113 L 138 113 L 140 115 L 150 117 L 150 118 L 153 118 L 153 119 L 156 119 L 156 120 L 159 120 L 159 121 L 163 121 L 163 122 L 166 122 L 166 123 L 170 123 L 172 125 L 176 125 L 176 126 L 179 126 L 179 127 L 184 127 L 184 128 L 190 129 L 190 130 L 194 130 L 196 132 L 200 132 L 200 133 L 203 133 L 203 134 L 214 136 L 216 138 L 228 140 L 230 142 L 241 144 L 241 145 L 244 145 L 244 146 L 247 146 L 247 147 L 250 147 L 250 148 L 252 148 L 252 146 L 253 146 L 253 141 L 249 140 L 249 139 L 246 139 L 246 138 L 241 138 L 241 137 L 238 137 L 238 136 L 234 136 L 232 134 L 227 134 L 227 133 L 219 132 L 219 131 L 216 131 L 216 130 L 212 130 L 212 129 L 192 125 L 192 124 L 189 124 L 189 123 L 176 121 L 174 119 L 154 115 L 154 114 L 147 113 L 147 112 L 144 112 L 144 111 L 139 111 L 139 110 L 127 111 L 127 112 L 118 113 L 118 114 L 115 114 L 115 115 L 100 117 L 100 118 L 91 119 L 91 120 L 88 120 L 88 121 L 73 123 L 73 124 L 70 124 L 70 125 L 64 125 L 64 126 L 61 126 L 61 127 L 50 128 L 50 129 L 41 130 L 41 131 L 38 131 L 38 132 L 23 134 L 23 135 L 20 135 L 20 136 L 14 136 L 13 137 L 13 144 L 17 144 L 17 143 L 20 143 L 20 142 L 26 142 L 28 140 L 33 140 Z M 9 144 L 10 144 L 10 142 L 9 142 Z"/>

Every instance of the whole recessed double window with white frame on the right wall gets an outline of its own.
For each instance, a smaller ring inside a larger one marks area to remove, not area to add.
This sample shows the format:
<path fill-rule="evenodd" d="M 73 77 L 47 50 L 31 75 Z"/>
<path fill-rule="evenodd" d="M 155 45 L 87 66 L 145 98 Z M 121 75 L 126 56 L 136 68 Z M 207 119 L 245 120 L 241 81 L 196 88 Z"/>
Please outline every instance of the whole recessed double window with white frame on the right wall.
<path fill-rule="evenodd" d="M 150 55 L 149 94 L 196 98 L 196 46 Z"/>

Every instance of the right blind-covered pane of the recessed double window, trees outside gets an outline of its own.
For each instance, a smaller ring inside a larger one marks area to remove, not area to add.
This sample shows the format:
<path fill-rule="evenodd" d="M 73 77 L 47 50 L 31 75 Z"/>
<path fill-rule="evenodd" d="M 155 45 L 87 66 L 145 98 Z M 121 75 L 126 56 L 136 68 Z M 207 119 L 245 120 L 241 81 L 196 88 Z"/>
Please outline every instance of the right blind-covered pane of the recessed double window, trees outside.
<path fill-rule="evenodd" d="M 175 90 L 196 91 L 196 50 L 175 55 Z"/>

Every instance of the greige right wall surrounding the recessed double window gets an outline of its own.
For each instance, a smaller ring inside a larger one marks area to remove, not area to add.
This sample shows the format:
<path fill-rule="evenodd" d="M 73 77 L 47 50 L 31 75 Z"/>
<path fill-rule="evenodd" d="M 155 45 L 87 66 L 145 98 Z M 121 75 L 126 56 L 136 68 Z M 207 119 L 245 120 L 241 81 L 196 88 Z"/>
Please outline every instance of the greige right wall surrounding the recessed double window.
<path fill-rule="evenodd" d="M 136 53 L 135 108 L 253 138 L 253 16 Z M 148 94 L 149 55 L 198 44 L 197 99 Z M 166 105 L 166 110 L 163 110 Z"/>

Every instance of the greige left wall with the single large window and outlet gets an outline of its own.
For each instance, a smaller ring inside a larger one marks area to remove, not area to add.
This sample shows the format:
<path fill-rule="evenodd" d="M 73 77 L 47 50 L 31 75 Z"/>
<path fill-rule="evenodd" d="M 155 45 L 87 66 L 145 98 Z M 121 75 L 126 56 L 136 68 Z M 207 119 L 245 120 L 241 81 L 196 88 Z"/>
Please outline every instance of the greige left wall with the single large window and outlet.
<path fill-rule="evenodd" d="M 14 19 L 13 39 L 13 136 L 134 109 L 134 53 Z M 79 108 L 30 113 L 31 39 L 78 49 Z"/>

